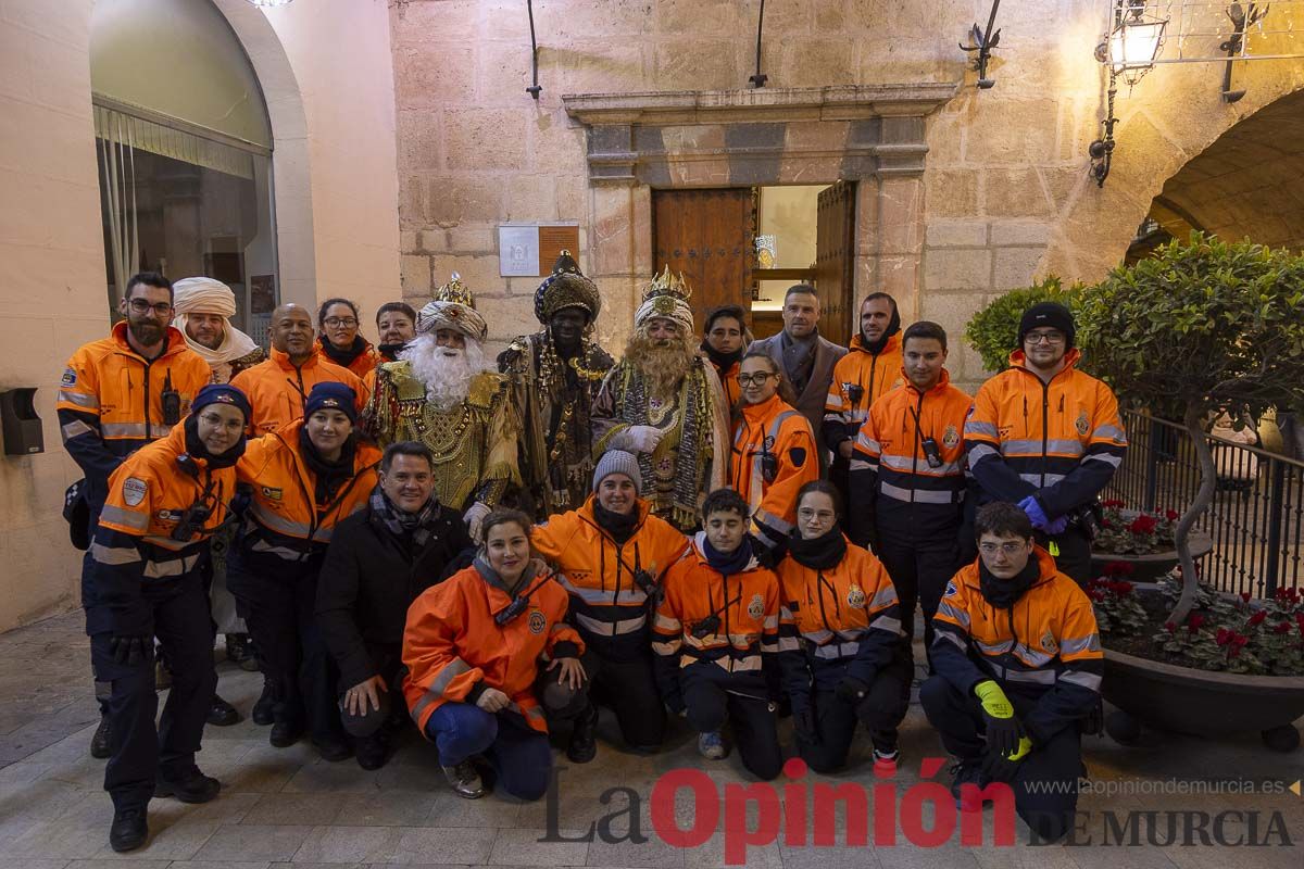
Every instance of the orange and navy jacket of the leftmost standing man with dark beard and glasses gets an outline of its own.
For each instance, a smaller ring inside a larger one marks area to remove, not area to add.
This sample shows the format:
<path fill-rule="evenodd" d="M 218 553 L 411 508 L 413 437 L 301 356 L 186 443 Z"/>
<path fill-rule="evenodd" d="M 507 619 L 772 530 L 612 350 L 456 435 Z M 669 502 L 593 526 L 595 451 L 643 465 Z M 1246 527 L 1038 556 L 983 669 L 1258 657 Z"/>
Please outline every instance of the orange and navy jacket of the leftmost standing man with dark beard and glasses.
<path fill-rule="evenodd" d="M 163 391 L 177 393 L 185 416 L 194 395 L 213 377 L 180 330 L 170 326 L 164 344 L 162 356 L 146 360 L 132 349 L 121 322 L 108 337 L 82 345 L 64 369 L 55 409 L 64 448 L 86 474 L 93 515 L 104 503 L 108 478 L 123 460 L 172 430 L 163 422 Z"/>

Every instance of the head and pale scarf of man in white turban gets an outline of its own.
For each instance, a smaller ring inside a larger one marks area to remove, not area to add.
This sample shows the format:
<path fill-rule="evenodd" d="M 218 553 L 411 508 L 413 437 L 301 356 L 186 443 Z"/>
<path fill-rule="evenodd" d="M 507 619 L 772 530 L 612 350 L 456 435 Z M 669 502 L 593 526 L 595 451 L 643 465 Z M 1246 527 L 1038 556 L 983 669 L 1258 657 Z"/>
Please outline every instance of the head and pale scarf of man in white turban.
<path fill-rule="evenodd" d="M 252 337 L 231 324 L 236 294 L 220 280 L 183 278 L 172 284 L 172 326 L 213 369 L 214 383 L 231 383 L 236 374 L 267 358 Z"/>

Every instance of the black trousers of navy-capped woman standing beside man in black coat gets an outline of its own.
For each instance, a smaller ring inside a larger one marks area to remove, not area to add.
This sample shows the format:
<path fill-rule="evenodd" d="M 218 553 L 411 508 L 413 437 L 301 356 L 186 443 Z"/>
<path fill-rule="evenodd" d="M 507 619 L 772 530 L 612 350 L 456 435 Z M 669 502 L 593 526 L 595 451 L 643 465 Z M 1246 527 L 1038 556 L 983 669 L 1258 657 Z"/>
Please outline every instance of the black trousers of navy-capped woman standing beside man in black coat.
<path fill-rule="evenodd" d="M 232 580 L 232 591 L 244 598 L 275 720 L 306 727 L 318 741 L 339 741 L 339 668 L 317 627 L 317 567 L 287 563 L 279 575 L 259 569 Z"/>

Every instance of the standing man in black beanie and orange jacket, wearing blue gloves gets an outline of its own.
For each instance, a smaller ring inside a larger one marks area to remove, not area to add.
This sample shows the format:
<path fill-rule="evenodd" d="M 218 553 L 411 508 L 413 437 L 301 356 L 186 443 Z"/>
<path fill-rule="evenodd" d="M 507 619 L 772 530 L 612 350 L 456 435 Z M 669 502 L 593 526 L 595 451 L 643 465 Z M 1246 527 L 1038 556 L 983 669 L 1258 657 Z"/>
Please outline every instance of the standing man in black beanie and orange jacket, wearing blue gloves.
<path fill-rule="evenodd" d="M 1018 504 L 1038 543 L 1080 584 L 1091 577 L 1095 502 L 1128 448 L 1114 392 L 1077 370 L 1073 315 L 1041 302 L 1018 326 L 1009 369 L 982 384 L 965 422 L 979 504 Z"/>

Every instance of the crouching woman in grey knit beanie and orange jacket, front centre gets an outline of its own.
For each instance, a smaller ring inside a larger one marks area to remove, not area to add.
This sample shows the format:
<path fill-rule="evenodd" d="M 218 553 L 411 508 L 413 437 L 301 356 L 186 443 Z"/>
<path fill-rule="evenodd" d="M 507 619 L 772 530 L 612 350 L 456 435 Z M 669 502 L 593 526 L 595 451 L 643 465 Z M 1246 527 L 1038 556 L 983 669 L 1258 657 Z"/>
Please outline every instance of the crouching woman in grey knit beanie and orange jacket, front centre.
<path fill-rule="evenodd" d="M 608 449 L 593 470 L 593 495 L 579 509 L 549 517 L 531 535 L 535 551 L 557 565 L 571 595 L 570 621 L 584 638 L 584 672 L 591 694 L 610 705 L 625 741 L 656 750 L 665 737 L 665 707 L 652 675 L 647 615 L 670 565 L 689 538 L 651 515 L 639 498 L 643 476 L 636 456 Z M 575 722 L 567 757 L 592 760 L 597 705 Z"/>

